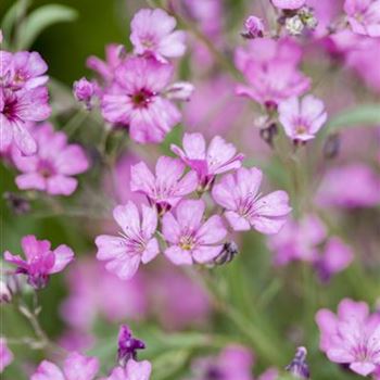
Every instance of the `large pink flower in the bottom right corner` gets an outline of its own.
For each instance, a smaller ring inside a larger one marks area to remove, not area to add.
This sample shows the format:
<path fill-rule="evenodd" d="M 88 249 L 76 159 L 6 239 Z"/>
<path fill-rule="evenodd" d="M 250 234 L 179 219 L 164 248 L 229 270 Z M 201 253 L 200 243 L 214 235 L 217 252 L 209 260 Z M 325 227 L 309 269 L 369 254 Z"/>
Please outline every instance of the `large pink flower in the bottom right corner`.
<path fill-rule="evenodd" d="M 331 362 L 349 365 L 362 376 L 376 371 L 380 365 L 380 317 L 370 315 L 366 303 L 343 300 L 338 316 L 320 309 L 316 320 L 320 349 Z"/>

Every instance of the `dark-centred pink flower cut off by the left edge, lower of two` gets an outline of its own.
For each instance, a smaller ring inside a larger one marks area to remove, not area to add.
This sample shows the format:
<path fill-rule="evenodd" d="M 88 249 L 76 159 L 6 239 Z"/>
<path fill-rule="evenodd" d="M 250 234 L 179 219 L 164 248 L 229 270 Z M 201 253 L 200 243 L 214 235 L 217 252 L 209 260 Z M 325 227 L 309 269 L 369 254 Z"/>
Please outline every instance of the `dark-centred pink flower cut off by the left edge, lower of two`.
<path fill-rule="evenodd" d="M 36 141 L 25 123 L 45 121 L 50 111 L 46 87 L 17 91 L 0 87 L 0 150 L 13 141 L 23 154 L 36 153 Z"/>

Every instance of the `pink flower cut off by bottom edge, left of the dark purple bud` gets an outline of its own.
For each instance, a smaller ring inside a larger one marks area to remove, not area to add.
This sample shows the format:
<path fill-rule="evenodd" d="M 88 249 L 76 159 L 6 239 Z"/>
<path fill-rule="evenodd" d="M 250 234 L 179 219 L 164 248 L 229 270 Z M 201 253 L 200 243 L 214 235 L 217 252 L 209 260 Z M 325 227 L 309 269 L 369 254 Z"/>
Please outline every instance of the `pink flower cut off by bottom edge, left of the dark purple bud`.
<path fill-rule="evenodd" d="M 76 352 L 69 353 L 63 370 L 54 363 L 43 360 L 30 380 L 92 380 L 99 370 L 99 360 Z"/>

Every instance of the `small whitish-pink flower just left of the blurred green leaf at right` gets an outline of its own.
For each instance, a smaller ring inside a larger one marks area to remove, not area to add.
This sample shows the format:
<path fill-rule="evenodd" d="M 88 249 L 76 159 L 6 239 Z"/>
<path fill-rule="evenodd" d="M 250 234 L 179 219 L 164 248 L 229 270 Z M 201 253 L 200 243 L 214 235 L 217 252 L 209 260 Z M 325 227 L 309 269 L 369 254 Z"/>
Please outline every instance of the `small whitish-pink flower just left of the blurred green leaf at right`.
<path fill-rule="evenodd" d="M 313 96 L 290 98 L 280 103 L 278 112 L 287 136 L 295 141 L 314 139 L 327 121 L 324 102 Z"/>

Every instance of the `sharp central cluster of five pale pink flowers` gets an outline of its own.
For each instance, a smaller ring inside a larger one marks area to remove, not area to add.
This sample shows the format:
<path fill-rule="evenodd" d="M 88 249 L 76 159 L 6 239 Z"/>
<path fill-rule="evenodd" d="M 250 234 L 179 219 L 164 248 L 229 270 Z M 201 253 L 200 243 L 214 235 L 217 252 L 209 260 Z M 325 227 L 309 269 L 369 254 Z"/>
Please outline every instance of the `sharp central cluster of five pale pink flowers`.
<path fill-rule="evenodd" d="M 142 204 L 140 213 L 131 201 L 118 205 L 113 216 L 121 236 L 96 239 L 98 259 L 106 261 L 106 268 L 122 279 L 131 278 L 140 263 L 149 263 L 161 250 L 176 265 L 212 264 L 223 253 L 228 233 L 215 206 L 223 207 L 232 230 L 254 228 L 268 235 L 277 233 L 291 212 L 284 191 L 261 195 L 262 172 L 241 167 L 243 155 L 219 136 L 206 149 L 201 134 L 186 134 L 182 149 L 172 150 L 179 159 L 160 157 L 155 176 L 143 162 L 131 167 L 130 189 L 144 194 L 149 206 Z M 217 181 L 226 172 L 235 174 Z M 210 191 L 214 210 L 206 213 L 203 199 L 186 199 L 195 191 L 201 197 Z"/>

